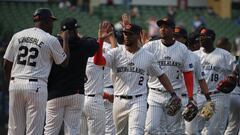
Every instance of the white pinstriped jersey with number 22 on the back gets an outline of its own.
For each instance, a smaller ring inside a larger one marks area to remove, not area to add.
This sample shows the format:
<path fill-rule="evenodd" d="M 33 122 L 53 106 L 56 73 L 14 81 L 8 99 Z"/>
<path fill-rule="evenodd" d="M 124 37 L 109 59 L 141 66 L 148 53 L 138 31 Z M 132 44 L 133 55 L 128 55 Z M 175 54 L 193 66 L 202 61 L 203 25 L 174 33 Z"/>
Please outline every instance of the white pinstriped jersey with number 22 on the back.
<path fill-rule="evenodd" d="M 4 59 L 13 62 L 11 77 L 36 78 L 47 83 L 53 60 L 60 64 L 66 58 L 59 41 L 39 28 L 16 33 Z"/>

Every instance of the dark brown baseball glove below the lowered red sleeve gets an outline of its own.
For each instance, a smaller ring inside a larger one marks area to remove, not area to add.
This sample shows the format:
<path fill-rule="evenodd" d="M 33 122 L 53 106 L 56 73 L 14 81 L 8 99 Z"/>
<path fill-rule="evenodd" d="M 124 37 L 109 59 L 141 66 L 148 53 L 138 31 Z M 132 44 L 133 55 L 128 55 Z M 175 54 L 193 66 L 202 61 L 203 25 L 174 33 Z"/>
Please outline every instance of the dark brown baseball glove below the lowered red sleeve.
<path fill-rule="evenodd" d="M 197 114 L 198 114 L 198 107 L 195 101 L 190 100 L 186 108 L 182 112 L 182 116 L 186 121 L 190 122 L 195 118 Z"/>

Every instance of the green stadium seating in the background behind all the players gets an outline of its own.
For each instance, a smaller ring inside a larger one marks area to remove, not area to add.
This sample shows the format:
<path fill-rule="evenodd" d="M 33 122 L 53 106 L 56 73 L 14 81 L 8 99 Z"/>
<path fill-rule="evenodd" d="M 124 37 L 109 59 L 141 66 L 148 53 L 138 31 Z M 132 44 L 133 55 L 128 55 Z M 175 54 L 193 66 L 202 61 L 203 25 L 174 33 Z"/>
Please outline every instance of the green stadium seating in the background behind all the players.
<path fill-rule="evenodd" d="M 24 28 L 32 27 L 33 22 L 31 15 L 36 8 L 49 7 L 54 12 L 59 20 L 67 16 L 76 17 L 79 24 L 82 26 L 79 31 L 87 36 L 97 36 L 97 27 L 100 20 L 108 19 L 113 23 L 119 21 L 122 13 L 126 12 L 126 7 L 123 5 L 107 6 L 100 5 L 94 9 L 94 14 L 89 16 L 85 12 L 69 11 L 67 9 L 59 9 L 57 3 L 40 3 L 40 2 L 0 2 L 0 39 L 4 32 L 17 32 Z M 141 25 L 147 29 L 146 20 L 151 16 L 162 18 L 167 15 L 167 7 L 161 6 L 138 6 L 140 17 L 132 19 L 133 23 Z M 237 11 L 233 11 L 234 16 L 237 16 Z M 188 31 L 191 31 L 191 22 L 194 15 L 200 14 L 207 24 L 207 27 L 216 31 L 217 37 L 226 36 L 233 40 L 240 32 L 240 26 L 236 25 L 231 19 L 222 19 L 213 17 L 207 14 L 205 9 L 190 8 L 187 11 L 178 10 L 175 20 L 177 24 L 184 24 Z M 53 30 L 57 34 L 60 26 L 60 21 L 55 23 Z"/>

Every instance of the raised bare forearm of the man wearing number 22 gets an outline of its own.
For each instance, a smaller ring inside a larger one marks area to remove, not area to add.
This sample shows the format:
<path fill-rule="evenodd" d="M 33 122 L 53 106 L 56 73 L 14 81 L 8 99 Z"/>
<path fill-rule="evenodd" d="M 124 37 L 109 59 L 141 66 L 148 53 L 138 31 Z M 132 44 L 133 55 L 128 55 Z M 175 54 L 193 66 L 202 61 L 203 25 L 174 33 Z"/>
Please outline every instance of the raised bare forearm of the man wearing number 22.
<path fill-rule="evenodd" d="M 69 43 L 68 43 L 68 39 L 69 39 L 69 30 L 65 30 L 64 32 L 61 33 L 60 35 L 63 39 L 63 51 L 66 53 L 67 57 L 66 59 L 63 61 L 63 63 L 61 64 L 61 66 L 66 67 L 68 65 L 69 62 Z"/>

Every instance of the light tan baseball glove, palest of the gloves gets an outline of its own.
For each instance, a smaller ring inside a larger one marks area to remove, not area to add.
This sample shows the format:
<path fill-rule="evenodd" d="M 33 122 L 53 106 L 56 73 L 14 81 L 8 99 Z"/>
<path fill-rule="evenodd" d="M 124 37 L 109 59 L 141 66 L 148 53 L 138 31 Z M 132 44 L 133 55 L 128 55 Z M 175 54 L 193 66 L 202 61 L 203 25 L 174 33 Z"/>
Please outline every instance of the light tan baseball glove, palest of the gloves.
<path fill-rule="evenodd" d="M 199 111 L 199 115 L 205 120 L 209 120 L 215 112 L 215 104 L 212 101 L 207 101 L 203 104 L 202 109 Z"/>

